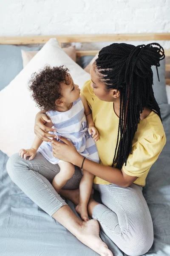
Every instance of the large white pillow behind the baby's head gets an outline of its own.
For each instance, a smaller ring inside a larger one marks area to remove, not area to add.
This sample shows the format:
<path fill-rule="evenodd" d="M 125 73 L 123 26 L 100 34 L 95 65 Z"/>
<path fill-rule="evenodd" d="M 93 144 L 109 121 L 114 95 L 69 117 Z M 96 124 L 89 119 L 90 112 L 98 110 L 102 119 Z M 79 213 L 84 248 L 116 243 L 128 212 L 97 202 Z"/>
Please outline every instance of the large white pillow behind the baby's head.
<path fill-rule="evenodd" d="M 90 75 L 59 47 L 57 39 L 51 38 L 15 79 L 0 91 L 0 150 L 8 156 L 20 148 L 30 148 L 34 140 L 34 119 L 39 109 L 31 99 L 28 81 L 31 74 L 38 72 L 45 64 L 68 67 L 80 88 L 90 79 Z"/>

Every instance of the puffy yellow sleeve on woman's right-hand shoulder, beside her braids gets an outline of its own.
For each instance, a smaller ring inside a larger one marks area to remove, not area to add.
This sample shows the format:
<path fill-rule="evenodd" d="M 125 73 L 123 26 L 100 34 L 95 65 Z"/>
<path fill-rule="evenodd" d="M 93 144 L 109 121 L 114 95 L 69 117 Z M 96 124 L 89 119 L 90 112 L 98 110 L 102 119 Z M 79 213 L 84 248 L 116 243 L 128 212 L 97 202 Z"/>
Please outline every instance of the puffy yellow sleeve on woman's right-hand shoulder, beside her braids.
<path fill-rule="evenodd" d="M 164 145 L 166 136 L 164 131 L 152 132 L 143 137 L 132 148 L 132 154 L 127 158 L 127 164 L 123 165 L 123 171 L 129 176 L 141 177 L 147 174 L 150 167 L 158 159 Z"/>

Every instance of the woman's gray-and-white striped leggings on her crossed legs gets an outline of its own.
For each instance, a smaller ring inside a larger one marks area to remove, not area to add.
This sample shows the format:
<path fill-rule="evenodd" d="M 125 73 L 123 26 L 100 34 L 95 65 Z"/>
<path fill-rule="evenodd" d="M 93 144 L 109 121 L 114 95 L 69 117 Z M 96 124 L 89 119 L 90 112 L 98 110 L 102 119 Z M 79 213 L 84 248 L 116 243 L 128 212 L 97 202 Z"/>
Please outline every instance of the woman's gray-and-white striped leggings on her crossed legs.
<path fill-rule="evenodd" d="M 66 204 L 51 185 L 59 166 L 49 163 L 42 154 L 37 153 L 31 161 L 14 154 L 8 160 L 7 171 L 14 183 L 49 215 Z M 77 189 L 81 177 L 82 172 L 75 166 L 73 177 L 63 188 Z M 94 184 L 94 189 L 99 191 L 102 204 L 94 207 L 92 217 L 105 234 L 127 255 L 147 253 L 153 244 L 153 224 L 142 187 Z"/>

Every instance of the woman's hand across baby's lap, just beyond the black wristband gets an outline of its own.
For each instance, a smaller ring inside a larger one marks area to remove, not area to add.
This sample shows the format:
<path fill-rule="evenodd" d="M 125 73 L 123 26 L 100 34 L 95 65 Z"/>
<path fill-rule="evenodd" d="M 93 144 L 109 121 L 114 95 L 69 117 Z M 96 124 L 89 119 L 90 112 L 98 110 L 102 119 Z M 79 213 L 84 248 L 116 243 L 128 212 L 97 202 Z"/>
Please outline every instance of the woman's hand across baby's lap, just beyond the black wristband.
<path fill-rule="evenodd" d="M 74 145 L 69 140 L 60 136 L 59 136 L 59 140 L 61 140 L 65 144 L 57 140 L 52 141 L 52 151 L 53 151 L 54 157 L 60 160 L 63 160 L 65 162 L 73 163 L 74 165 L 78 165 L 80 160 L 80 166 L 81 166 L 83 157 L 77 152 Z"/>

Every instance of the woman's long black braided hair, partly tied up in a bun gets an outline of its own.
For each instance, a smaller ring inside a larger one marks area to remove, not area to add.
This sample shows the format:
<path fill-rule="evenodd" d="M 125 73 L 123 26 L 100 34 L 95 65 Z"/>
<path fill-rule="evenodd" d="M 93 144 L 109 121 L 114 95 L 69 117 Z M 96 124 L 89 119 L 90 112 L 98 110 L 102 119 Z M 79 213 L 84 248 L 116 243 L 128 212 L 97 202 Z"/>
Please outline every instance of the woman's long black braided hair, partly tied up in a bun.
<path fill-rule="evenodd" d="M 136 47 L 116 43 L 102 48 L 94 62 L 94 70 L 105 83 L 106 90 L 120 91 L 119 129 L 112 166 L 116 164 L 122 169 L 132 154 L 133 137 L 144 107 L 157 113 L 161 119 L 153 94 L 151 66 L 156 66 L 158 75 L 159 61 L 164 58 L 164 49 L 157 43 Z"/>

